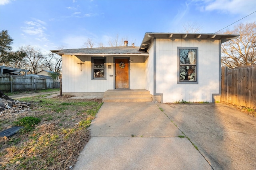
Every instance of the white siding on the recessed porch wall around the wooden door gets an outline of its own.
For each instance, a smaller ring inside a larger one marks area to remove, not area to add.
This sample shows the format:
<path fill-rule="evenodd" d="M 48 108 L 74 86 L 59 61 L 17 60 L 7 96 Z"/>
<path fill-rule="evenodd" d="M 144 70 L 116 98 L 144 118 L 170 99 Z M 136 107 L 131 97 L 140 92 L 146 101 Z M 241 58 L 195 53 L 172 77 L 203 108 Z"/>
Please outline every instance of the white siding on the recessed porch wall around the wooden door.
<path fill-rule="evenodd" d="M 78 59 L 79 57 L 79 59 Z M 86 93 L 105 92 L 114 89 L 114 57 L 106 57 L 106 80 L 92 80 L 92 63 L 89 56 L 62 55 L 62 92 Z M 118 56 L 115 56 L 118 57 Z M 144 57 L 130 57 L 130 88 L 144 89 Z M 80 71 L 80 59 L 82 71 Z M 111 68 L 108 68 L 111 65 Z M 113 75 L 113 76 L 110 76 Z"/>

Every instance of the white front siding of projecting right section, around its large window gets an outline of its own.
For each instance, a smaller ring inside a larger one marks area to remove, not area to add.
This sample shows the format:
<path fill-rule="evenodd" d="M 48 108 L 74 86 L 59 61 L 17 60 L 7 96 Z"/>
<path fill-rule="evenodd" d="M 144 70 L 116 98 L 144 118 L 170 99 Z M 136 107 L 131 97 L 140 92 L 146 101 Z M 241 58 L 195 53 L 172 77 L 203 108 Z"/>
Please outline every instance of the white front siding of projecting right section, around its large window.
<path fill-rule="evenodd" d="M 198 47 L 198 84 L 177 84 L 177 47 Z M 156 93 L 163 102 L 212 102 L 219 93 L 219 40 L 156 39 Z"/>

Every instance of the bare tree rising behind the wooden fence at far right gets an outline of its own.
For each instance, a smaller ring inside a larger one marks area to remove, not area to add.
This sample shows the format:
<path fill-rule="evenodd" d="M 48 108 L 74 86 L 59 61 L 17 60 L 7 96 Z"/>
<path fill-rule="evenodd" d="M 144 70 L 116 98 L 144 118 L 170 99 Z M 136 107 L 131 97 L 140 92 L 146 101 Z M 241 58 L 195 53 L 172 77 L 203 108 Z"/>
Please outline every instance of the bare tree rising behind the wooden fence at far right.
<path fill-rule="evenodd" d="M 222 66 L 235 68 L 256 64 L 256 23 L 241 23 L 225 33 L 240 34 L 240 37 L 222 43 Z"/>

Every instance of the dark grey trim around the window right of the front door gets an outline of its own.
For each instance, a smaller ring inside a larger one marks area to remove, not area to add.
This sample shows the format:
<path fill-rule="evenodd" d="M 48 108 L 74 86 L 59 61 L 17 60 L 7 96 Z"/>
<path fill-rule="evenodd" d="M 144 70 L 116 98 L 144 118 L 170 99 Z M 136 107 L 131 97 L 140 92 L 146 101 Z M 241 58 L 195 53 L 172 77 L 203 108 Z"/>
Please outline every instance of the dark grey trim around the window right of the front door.
<path fill-rule="evenodd" d="M 178 84 L 198 84 L 198 47 L 177 47 L 178 49 L 178 75 L 177 75 L 177 83 Z M 180 49 L 196 49 L 196 81 L 189 80 L 180 80 Z"/>

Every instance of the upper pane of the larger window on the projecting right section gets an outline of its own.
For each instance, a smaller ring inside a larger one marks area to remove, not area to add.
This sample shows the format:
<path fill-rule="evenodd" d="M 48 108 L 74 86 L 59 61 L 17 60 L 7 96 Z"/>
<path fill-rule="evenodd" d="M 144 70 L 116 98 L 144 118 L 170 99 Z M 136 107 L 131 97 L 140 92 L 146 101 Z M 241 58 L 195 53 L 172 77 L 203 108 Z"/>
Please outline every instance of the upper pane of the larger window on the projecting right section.
<path fill-rule="evenodd" d="M 180 49 L 180 64 L 196 64 L 196 49 Z"/>

